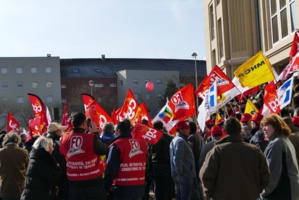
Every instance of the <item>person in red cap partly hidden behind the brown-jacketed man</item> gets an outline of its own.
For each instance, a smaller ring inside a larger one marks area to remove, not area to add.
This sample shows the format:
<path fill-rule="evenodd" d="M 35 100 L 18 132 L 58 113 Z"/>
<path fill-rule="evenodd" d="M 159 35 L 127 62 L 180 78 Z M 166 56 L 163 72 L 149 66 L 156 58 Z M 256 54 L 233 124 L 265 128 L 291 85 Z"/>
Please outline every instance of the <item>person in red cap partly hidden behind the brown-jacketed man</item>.
<path fill-rule="evenodd" d="M 200 152 L 200 157 L 199 157 L 199 170 L 201 169 L 206 155 L 208 154 L 208 152 L 213 149 L 213 147 L 215 146 L 215 143 L 221 139 L 223 135 L 223 130 L 222 128 L 220 128 L 219 126 L 213 126 L 213 128 L 211 129 L 211 136 L 212 136 L 212 140 L 206 144 L 204 144 L 201 152 Z"/>

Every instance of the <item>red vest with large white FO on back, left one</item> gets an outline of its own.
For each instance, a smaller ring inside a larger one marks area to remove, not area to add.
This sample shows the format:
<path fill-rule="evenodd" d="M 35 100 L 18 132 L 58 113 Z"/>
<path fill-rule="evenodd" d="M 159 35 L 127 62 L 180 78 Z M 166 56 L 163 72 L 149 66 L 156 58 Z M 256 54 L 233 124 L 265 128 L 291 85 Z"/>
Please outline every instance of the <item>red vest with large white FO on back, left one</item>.
<path fill-rule="evenodd" d="M 61 137 L 60 153 L 66 159 L 69 180 L 97 178 L 104 172 L 103 161 L 93 152 L 94 134 L 67 133 Z"/>

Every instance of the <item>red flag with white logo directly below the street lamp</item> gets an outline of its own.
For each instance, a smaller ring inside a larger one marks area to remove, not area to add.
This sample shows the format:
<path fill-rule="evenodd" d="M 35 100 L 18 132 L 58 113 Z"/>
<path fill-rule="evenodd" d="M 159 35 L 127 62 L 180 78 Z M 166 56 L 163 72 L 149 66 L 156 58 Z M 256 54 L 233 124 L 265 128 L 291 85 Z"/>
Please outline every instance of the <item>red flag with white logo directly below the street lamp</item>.
<path fill-rule="evenodd" d="M 191 84 L 179 89 L 169 102 L 174 105 L 174 118 L 172 120 L 196 114 L 194 88 Z"/>

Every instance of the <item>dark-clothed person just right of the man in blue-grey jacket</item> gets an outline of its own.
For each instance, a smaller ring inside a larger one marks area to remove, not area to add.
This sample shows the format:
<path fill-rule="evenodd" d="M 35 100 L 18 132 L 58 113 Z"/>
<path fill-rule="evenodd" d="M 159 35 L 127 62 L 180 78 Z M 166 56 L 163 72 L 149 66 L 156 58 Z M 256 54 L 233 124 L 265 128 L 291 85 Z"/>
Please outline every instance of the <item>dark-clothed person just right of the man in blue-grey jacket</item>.
<path fill-rule="evenodd" d="M 194 156 L 194 163 L 195 163 L 195 174 L 196 174 L 196 184 L 200 194 L 200 198 L 203 200 L 203 190 L 201 187 L 201 181 L 199 179 L 199 158 L 201 149 L 204 145 L 204 139 L 197 133 L 197 125 L 194 122 L 189 122 L 190 133 L 188 137 L 188 143 L 192 149 L 192 153 Z"/>

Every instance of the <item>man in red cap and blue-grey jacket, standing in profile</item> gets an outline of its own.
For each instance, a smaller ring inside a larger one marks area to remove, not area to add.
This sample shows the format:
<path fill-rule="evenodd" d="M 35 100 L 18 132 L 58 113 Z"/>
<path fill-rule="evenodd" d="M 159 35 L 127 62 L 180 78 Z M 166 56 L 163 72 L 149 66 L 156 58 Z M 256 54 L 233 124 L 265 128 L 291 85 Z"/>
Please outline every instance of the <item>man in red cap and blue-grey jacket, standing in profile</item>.
<path fill-rule="evenodd" d="M 189 123 L 180 121 L 176 130 L 178 133 L 170 143 L 171 175 L 176 186 L 176 199 L 190 200 L 196 195 L 197 188 L 194 156 L 188 144 Z"/>

